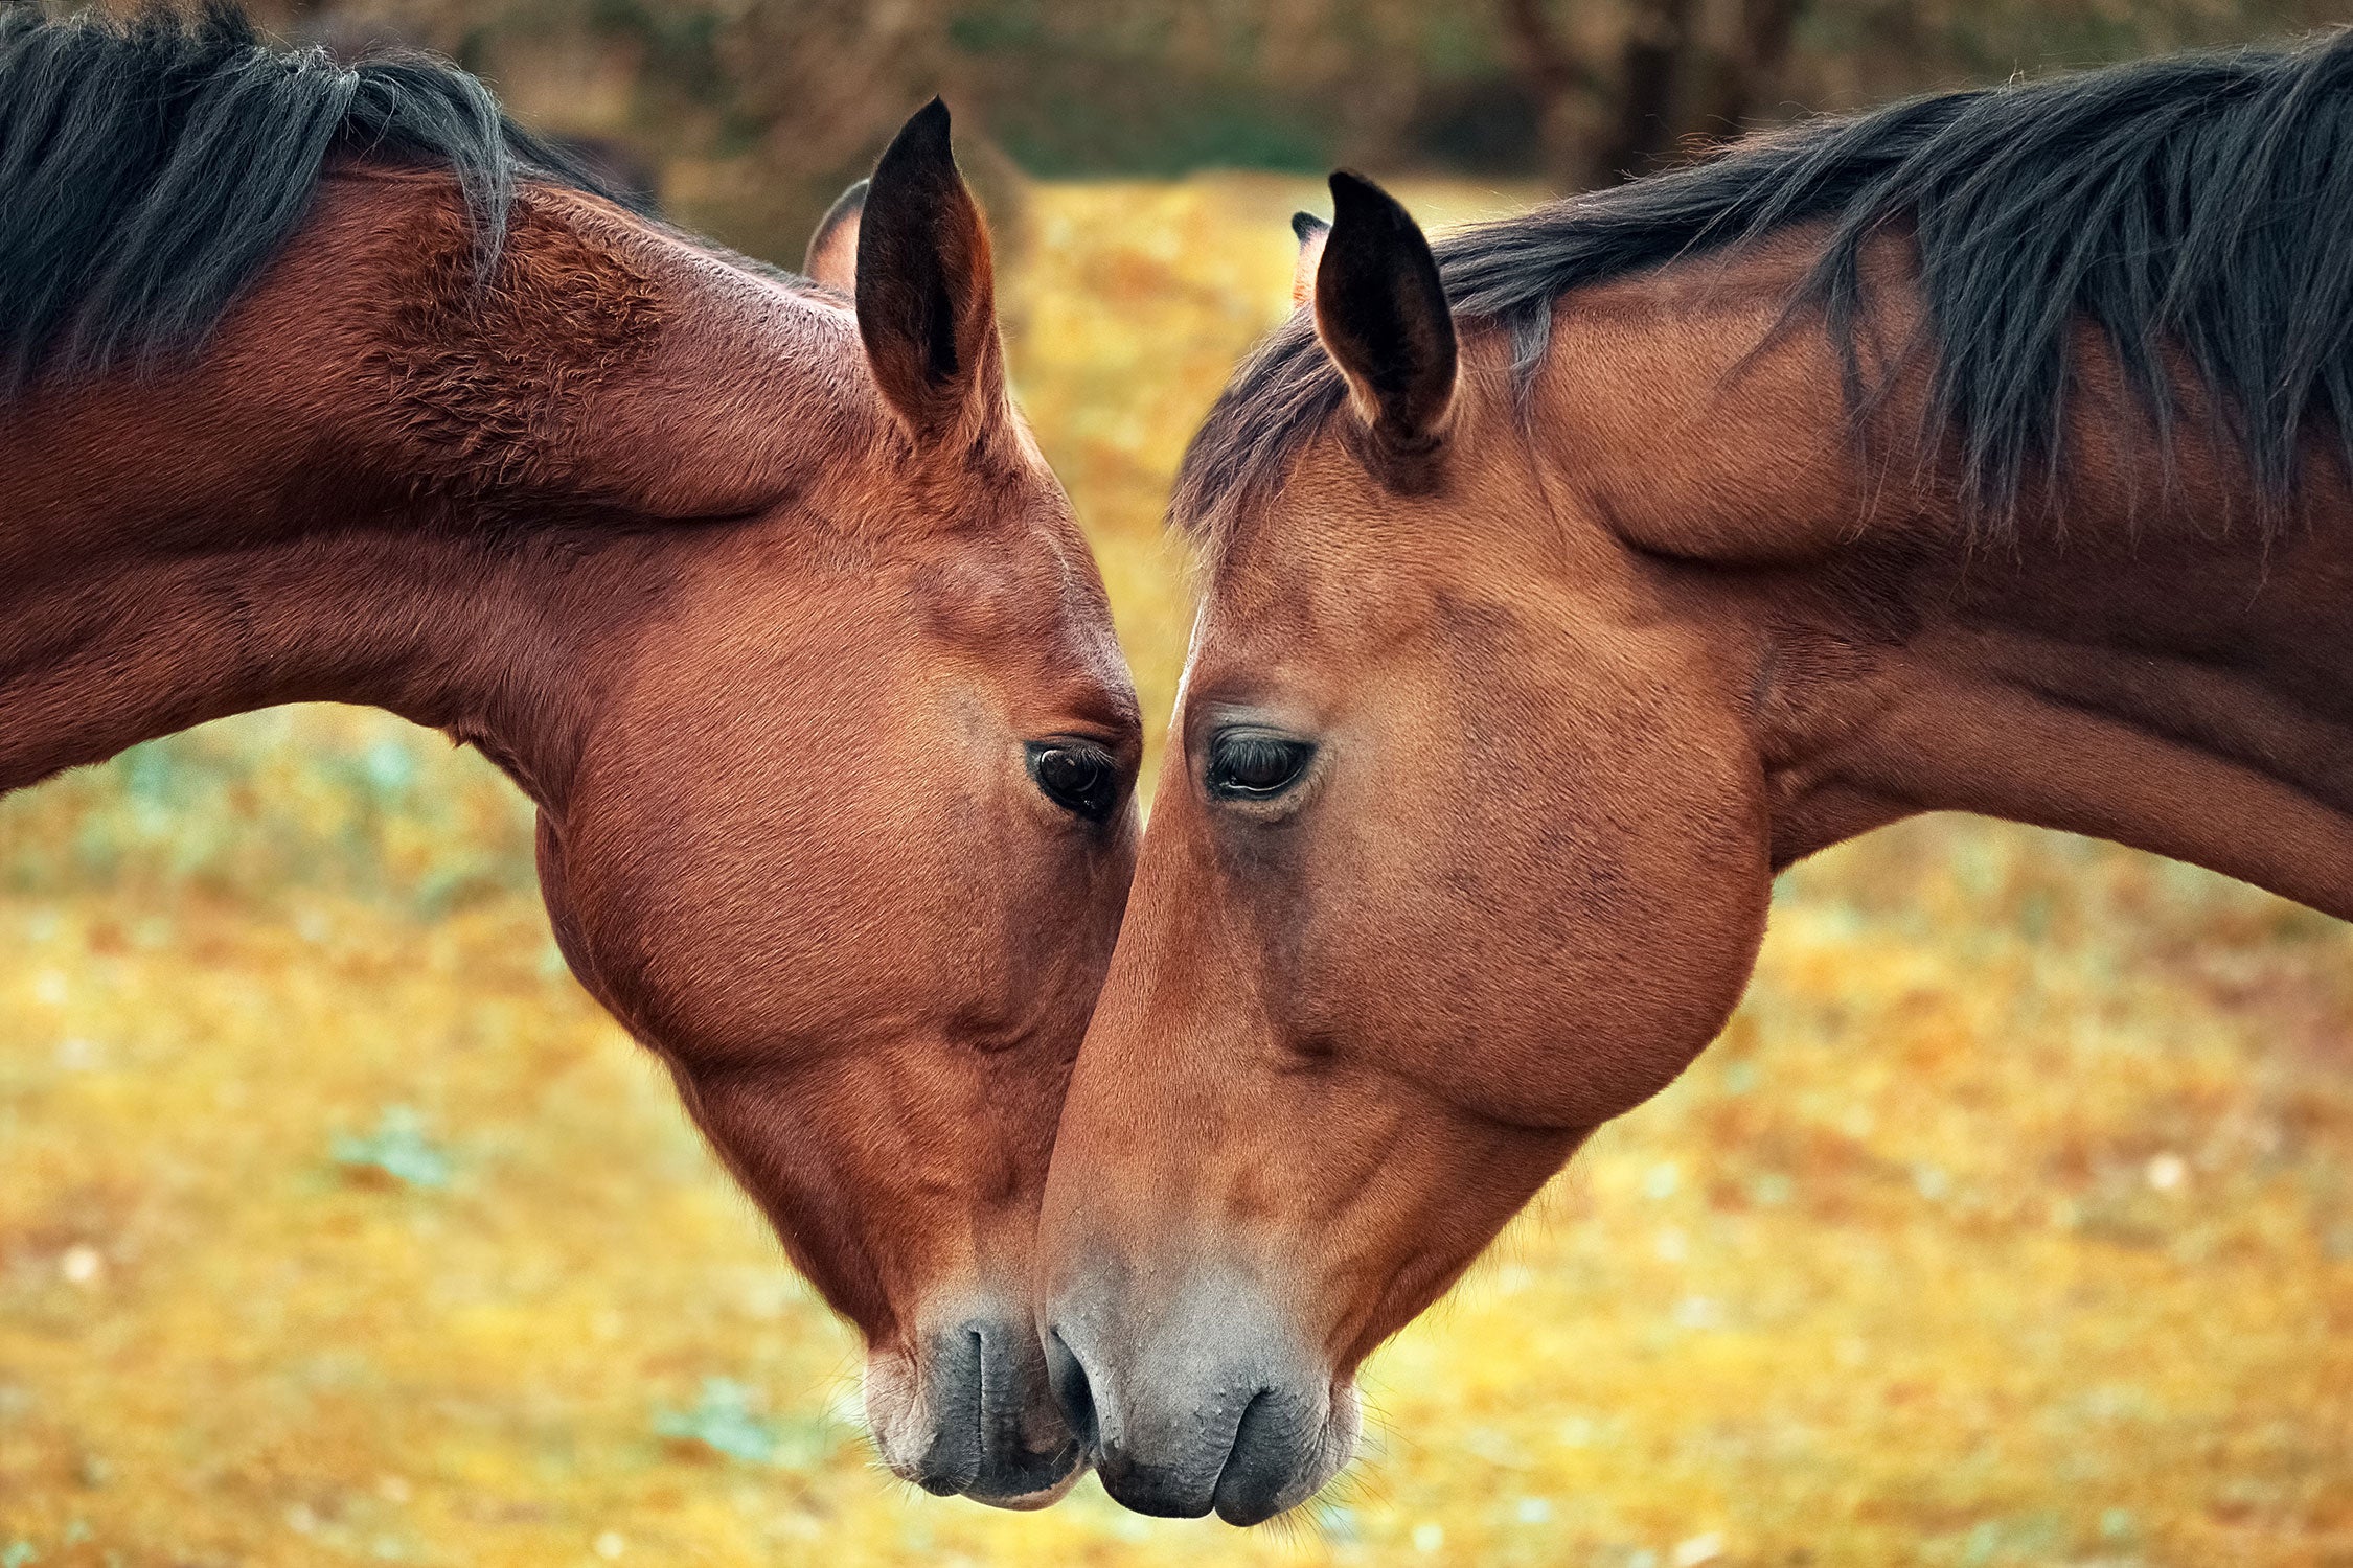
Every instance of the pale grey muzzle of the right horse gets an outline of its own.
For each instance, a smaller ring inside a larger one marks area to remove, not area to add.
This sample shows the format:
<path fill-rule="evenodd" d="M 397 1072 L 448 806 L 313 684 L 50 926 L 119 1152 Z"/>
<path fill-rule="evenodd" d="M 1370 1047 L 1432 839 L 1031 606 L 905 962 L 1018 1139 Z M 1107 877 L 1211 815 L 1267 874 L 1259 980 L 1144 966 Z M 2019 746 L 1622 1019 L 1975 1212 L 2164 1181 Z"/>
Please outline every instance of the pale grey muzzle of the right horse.
<path fill-rule="evenodd" d="M 1047 1316 L 1045 1359 L 1078 1443 L 1139 1514 L 1259 1523 L 1299 1507 L 1355 1453 L 1360 1406 L 1254 1284 L 1195 1279 L 1118 1312 L 1101 1281 Z"/>

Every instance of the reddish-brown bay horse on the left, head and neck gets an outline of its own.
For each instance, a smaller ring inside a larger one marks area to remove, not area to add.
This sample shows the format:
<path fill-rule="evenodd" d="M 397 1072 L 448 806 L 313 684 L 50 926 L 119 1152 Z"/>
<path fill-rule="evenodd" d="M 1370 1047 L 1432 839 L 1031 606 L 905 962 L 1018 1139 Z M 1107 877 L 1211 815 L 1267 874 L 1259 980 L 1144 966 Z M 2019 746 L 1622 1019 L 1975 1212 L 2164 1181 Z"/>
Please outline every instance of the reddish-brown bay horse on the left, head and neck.
<path fill-rule="evenodd" d="M 1136 705 L 948 110 L 861 195 L 802 280 L 452 66 L 0 12 L 0 790 L 294 701 L 478 748 L 572 971 L 864 1333 L 882 1458 L 1038 1505 Z"/>

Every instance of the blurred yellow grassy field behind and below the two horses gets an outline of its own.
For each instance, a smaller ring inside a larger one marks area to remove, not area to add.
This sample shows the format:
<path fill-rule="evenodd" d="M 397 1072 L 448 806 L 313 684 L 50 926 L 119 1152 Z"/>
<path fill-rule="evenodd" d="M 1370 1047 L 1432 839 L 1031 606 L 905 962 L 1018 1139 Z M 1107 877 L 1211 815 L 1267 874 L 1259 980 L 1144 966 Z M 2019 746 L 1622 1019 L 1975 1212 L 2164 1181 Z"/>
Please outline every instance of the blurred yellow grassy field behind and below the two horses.
<path fill-rule="evenodd" d="M 1311 195 L 1026 216 L 1021 395 L 1155 717 L 1160 494 Z M 2012 827 L 1826 856 L 1729 1037 L 1374 1361 L 1337 1500 L 1007 1516 L 878 1469 L 852 1335 L 562 973 L 506 785 L 374 715 L 224 724 L 0 806 L 0 1568 L 2353 1563 L 2348 959 Z"/>

